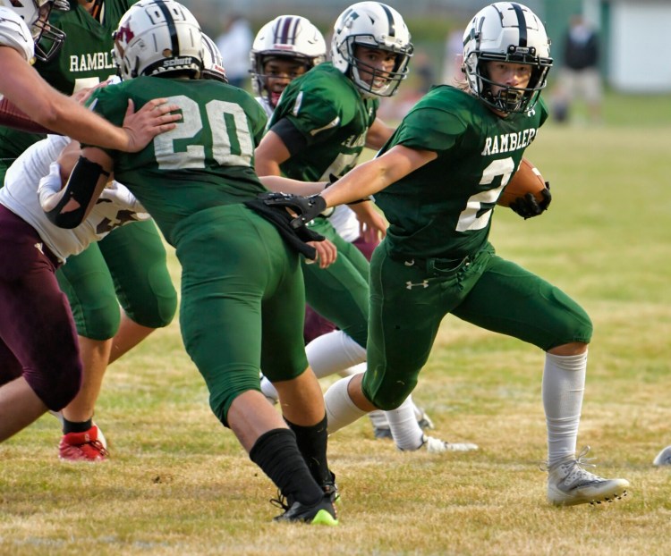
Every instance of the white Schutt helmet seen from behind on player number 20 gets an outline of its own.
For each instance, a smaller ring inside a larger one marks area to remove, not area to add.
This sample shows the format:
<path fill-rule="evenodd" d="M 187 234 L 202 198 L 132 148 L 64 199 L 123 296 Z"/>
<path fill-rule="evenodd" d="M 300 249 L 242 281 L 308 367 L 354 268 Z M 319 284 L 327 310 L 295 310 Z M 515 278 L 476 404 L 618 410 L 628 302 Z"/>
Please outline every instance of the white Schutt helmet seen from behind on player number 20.
<path fill-rule="evenodd" d="M 115 63 L 123 80 L 203 67 L 200 25 L 174 0 L 140 0 L 123 14 L 114 34 Z"/>

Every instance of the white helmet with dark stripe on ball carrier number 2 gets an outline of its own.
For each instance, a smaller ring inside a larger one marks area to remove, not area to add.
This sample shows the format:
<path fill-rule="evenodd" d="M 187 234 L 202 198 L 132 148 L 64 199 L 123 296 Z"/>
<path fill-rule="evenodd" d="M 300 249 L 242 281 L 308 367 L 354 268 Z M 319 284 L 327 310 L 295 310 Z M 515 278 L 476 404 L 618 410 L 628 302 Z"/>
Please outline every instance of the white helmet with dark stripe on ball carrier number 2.
<path fill-rule="evenodd" d="M 488 78 L 488 62 L 531 65 L 527 87 L 507 87 Z M 463 70 L 471 93 L 505 113 L 530 112 L 548 84 L 550 40 L 531 10 L 515 2 L 497 2 L 475 14 L 463 33 Z M 491 86 L 502 88 L 495 97 Z"/>

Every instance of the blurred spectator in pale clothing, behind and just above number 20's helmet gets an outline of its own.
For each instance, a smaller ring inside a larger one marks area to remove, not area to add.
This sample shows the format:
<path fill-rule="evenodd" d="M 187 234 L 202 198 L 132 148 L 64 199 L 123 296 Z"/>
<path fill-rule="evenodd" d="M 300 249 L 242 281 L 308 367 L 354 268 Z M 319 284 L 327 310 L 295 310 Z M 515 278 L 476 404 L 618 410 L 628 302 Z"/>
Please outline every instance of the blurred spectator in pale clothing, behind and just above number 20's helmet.
<path fill-rule="evenodd" d="M 224 26 L 224 31 L 215 41 L 221 57 L 228 82 L 235 87 L 247 88 L 250 83 L 250 50 L 254 34 L 250 22 L 242 15 L 234 14 Z"/>

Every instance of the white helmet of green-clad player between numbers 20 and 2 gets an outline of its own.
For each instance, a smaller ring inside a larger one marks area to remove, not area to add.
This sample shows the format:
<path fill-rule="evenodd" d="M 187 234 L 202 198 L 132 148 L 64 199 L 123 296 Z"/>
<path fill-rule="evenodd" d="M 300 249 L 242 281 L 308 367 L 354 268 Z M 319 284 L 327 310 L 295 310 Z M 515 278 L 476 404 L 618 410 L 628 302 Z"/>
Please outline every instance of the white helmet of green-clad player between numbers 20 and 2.
<path fill-rule="evenodd" d="M 374 87 L 361 80 L 361 70 L 372 73 L 373 80 L 380 72 L 355 56 L 357 45 L 395 53 L 394 69 L 388 74 L 383 74 L 386 83 L 382 87 Z M 349 77 L 365 95 L 378 97 L 394 95 L 401 81 L 407 77 L 408 62 L 413 49 L 410 31 L 403 17 L 386 4 L 379 2 L 352 4 L 335 21 L 331 40 L 333 65 Z"/>

